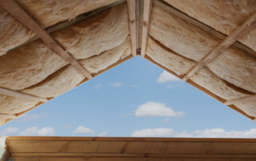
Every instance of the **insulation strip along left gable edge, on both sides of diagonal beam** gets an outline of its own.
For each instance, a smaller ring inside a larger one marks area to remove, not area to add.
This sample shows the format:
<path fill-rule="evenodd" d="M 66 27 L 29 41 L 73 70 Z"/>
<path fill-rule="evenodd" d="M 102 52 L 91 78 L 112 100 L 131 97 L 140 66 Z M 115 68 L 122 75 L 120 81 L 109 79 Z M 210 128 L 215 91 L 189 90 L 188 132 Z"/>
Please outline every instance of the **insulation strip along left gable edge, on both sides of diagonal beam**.
<path fill-rule="evenodd" d="M 130 37 L 127 37 L 126 41 L 114 49 L 110 49 L 102 53 L 99 56 L 94 56 L 85 60 L 81 60 L 80 63 L 89 70 L 90 73 L 98 73 L 102 69 L 106 69 L 108 66 L 118 61 L 122 55 L 130 54 Z M 56 73 L 47 77 L 45 81 L 36 84 L 30 88 L 22 90 L 32 94 L 34 96 L 41 97 L 56 97 L 64 92 L 75 88 L 85 77 L 78 73 L 73 66 L 67 65 Z"/>

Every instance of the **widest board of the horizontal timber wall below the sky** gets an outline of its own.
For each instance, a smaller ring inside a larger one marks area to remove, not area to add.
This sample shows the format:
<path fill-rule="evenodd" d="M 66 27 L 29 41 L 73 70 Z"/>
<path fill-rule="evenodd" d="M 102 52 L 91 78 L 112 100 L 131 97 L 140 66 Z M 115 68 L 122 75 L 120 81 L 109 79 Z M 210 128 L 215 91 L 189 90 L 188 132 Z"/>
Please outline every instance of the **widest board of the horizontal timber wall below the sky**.
<path fill-rule="evenodd" d="M 256 143 L 6 140 L 10 153 L 255 155 Z"/>

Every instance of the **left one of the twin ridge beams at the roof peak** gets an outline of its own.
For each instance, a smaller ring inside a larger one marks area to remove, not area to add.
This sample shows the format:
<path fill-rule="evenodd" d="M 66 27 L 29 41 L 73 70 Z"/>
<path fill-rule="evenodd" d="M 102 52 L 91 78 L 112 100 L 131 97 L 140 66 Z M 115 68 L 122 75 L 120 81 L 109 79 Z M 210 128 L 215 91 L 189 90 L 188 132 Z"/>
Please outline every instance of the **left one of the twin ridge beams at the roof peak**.
<path fill-rule="evenodd" d="M 133 57 L 137 55 L 137 18 L 136 18 L 136 2 L 135 0 L 127 0 L 128 6 L 128 21 L 129 21 L 129 29 L 130 29 L 130 46 L 131 46 L 131 53 Z"/>

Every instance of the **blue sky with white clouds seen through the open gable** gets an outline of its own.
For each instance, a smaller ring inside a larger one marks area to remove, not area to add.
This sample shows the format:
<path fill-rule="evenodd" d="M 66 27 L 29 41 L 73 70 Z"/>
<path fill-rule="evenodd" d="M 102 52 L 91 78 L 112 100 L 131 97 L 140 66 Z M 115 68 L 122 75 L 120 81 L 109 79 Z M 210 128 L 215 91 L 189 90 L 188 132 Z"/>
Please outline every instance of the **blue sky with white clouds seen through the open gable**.
<path fill-rule="evenodd" d="M 256 137 L 256 124 L 142 57 L 0 127 L 0 135 Z"/>

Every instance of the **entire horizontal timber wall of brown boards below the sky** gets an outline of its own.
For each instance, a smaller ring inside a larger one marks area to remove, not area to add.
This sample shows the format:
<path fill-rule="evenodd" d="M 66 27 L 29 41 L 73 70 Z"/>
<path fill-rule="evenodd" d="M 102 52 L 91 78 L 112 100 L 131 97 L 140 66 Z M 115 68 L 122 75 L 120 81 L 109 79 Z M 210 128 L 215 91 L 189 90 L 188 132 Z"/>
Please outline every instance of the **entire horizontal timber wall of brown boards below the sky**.
<path fill-rule="evenodd" d="M 256 159 L 256 139 L 14 136 L 6 145 L 22 161 Z"/>

